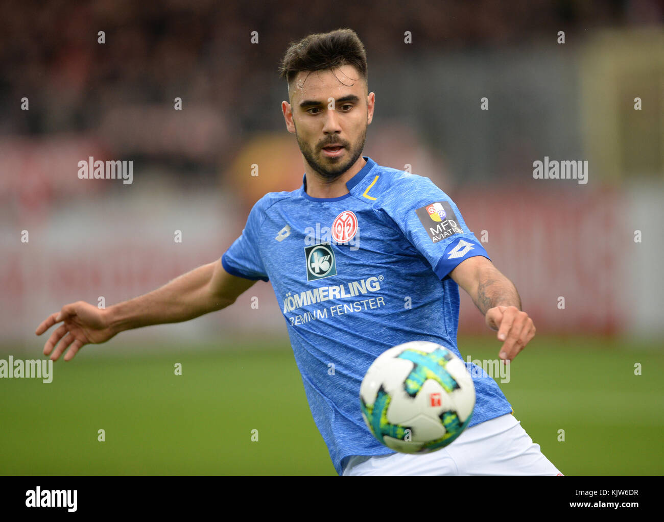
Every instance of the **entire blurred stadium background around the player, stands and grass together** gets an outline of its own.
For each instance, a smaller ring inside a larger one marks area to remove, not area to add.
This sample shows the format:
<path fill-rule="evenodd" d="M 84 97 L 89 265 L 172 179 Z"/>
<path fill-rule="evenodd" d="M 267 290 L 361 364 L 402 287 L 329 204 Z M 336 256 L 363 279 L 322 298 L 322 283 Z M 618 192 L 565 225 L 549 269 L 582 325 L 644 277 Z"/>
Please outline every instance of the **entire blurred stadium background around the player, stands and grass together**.
<path fill-rule="evenodd" d="M 663 474 L 661 2 L 7 1 L 2 18 L 0 358 L 41 358 L 35 327 L 66 302 L 218 259 L 258 198 L 297 188 L 276 69 L 292 40 L 350 27 L 376 93 L 365 155 L 450 194 L 535 319 L 501 383 L 517 419 L 565 474 Z M 133 183 L 78 179 L 88 157 L 132 160 Z M 533 179 L 544 157 L 587 160 L 588 184 Z M 461 354 L 498 348 L 464 294 Z M 0 448 L 0 474 L 334 474 L 262 282 L 88 346 L 48 385 L 0 379 Z"/>

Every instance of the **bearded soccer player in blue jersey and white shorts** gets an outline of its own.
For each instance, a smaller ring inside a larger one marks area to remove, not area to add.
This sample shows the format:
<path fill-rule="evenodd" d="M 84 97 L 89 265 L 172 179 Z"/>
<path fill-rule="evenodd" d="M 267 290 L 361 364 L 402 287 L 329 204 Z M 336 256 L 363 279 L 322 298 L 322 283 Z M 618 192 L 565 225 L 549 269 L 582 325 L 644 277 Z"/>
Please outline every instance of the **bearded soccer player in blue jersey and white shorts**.
<path fill-rule="evenodd" d="M 220 310 L 262 279 L 274 287 L 311 414 L 340 475 L 560 474 L 481 371 L 471 422 L 446 448 L 398 454 L 371 434 L 359 387 L 377 356 L 425 340 L 460 357 L 459 286 L 497 330 L 500 359 L 514 359 L 535 326 L 445 192 L 362 155 L 375 97 L 357 34 L 311 34 L 291 44 L 280 72 L 286 127 L 304 160 L 301 188 L 263 196 L 220 261 L 106 310 L 66 304 L 37 328 L 39 335 L 62 322 L 44 355 L 55 360 L 69 347 L 70 360 L 123 330 Z"/>

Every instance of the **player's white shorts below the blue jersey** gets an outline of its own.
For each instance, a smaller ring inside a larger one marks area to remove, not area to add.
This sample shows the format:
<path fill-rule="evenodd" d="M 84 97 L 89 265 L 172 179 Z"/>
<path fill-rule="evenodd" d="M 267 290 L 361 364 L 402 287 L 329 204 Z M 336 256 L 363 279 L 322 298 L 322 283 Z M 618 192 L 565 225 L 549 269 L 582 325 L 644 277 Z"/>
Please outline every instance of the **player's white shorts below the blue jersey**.
<path fill-rule="evenodd" d="M 353 456 L 343 476 L 562 475 L 511 414 L 475 424 L 432 453 Z"/>

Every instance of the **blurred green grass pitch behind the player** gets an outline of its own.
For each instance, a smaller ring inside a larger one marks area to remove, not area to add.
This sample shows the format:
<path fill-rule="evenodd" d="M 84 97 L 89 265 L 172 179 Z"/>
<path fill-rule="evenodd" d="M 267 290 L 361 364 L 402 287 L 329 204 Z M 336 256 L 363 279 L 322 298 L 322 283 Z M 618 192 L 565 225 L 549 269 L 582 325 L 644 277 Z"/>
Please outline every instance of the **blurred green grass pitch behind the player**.
<path fill-rule="evenodd" d="M 335 475 L 288 341 L 264 343 L 114 352 L 116 338 L 55 363 L 50 384 L 0 379 L 0 474 Z M 39 358 L 41 346 L 0 358 Z M 494 359 L 499 344 L 487 334 L 459 346 Z M 539 336 L 500 386 L 564 474 L 661 475 L 663 375 L 654 343 Z"/>

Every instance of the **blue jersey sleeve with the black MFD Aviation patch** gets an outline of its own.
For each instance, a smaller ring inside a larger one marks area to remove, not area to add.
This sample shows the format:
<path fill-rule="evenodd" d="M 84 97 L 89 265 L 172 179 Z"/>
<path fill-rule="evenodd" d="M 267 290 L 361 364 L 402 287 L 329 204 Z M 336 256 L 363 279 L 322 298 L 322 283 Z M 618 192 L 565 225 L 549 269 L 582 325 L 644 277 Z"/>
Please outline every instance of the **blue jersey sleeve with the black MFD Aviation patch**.
<path fill-rule="evenodd" d="M 450 197 L 429 178 L 414 176 L 385 210 L 406 239 L 430 263 L 439 279 L 445 279 L 465 259 L 489 254 L 467 228 L 461 212 Z"/>

